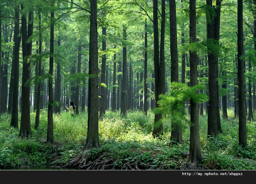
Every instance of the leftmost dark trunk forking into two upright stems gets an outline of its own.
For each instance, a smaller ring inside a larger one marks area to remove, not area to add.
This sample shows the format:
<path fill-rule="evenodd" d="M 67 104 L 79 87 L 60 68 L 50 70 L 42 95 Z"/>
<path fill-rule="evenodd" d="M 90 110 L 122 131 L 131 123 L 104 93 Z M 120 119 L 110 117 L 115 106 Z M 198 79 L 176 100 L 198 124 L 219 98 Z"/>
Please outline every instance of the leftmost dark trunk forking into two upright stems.
<path fill-rule="evenodd" d="M 21 4 L 21 10 L 23 5 Z M 22 85 L 21 85 L 21 116 L 20 116 L 20 133 L 19 137 L 27 137 L 31 135 L 30 125 L 30 85 L 25 83 L 30 79 L 30 62 L 28 57 L 31 55 L 32 40 L 27 43 L 27 40 L 33 34 L 33 11 L 28 15 L 28 32 L 27 32 L 27 18 L 23 13 L 21 16 L 21 30 L 22 30 Z"/>

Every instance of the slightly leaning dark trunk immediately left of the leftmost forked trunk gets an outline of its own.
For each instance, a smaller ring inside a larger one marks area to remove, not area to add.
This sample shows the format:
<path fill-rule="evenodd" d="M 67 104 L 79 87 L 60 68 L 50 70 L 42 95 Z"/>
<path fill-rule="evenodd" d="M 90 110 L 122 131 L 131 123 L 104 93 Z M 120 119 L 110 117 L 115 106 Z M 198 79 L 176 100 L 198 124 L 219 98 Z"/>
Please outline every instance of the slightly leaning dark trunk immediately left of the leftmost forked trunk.
<path fill-rule="evenodd" d="M 18 127 L 18 101 L 19 101 L 19 55 L 20 55 L 20 41 L 21 37 L 19 35 L 19 17 L 20 17 L 19 6 L 15 7 L 15 26 L 14 26 L 14 47 L 13 47 L 13 88 L 12 88 L 12 117 L 11 126 L 15 128 Z M 9 109 L 9 107 L 8 107 Z"/>

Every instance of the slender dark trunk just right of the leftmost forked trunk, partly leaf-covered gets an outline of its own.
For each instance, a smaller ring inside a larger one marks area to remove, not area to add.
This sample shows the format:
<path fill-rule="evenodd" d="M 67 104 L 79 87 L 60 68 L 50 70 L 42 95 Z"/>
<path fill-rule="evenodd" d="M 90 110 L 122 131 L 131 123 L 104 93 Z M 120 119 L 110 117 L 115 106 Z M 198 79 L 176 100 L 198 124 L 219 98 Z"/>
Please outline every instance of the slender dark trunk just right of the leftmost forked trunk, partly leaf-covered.
<path fill-rule="evenodd" d="M 40 76 L 42 74 L 42 33 L 41 33 L 41 12 L 38 12 L 38 20 L 39 20 L 39 47 L 38 47 L 38 54 L 40 55 L 39 57 L 39 61 L 38 61 L 38 76 Z M 43 90 L 43 83 L 39 83 L 37 86 L 37 99 L 36 99 L 36 120 L 35 120 L 35 129 L 37 129 L 38 125 L 39 125 L 39 119 L 40 119 L 40 107 L 41 107 L 41 103 L 42 103 L 42 96 L 41 96 L 41 91 Z"/>

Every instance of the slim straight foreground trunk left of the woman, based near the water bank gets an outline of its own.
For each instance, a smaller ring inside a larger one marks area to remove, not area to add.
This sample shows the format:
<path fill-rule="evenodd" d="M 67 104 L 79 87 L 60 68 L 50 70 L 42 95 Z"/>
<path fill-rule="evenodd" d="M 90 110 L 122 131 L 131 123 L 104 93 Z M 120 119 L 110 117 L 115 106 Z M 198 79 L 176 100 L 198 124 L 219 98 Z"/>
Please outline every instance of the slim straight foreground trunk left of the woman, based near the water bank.
<path fill-rule="evenodd" d="M 54 1 L 52 2 L 53 5 Z M 53 51 L 54 51 L 54 11 L 51 11 L 50 28 L 50 59 L 49 59 L 49 79 L 48 79 L 48 113 L 47 113 L 47 138 L 46 143 L 53 144 Z"/>

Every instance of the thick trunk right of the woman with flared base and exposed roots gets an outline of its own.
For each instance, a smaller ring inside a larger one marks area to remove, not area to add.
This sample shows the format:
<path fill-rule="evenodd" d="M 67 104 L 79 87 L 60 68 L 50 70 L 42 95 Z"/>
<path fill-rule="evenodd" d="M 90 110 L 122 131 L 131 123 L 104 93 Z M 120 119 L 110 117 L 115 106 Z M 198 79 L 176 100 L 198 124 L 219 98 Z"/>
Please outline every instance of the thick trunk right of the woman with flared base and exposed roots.
<path fill-rule="evenodd" d="M 87 164 L 87 150 L 99 148 L 99 93 L 98 93 L 98 35 L 97 35 L 97 0 L 91 0 L 90 42 L 89 42 L 89 77 L 88 81 L 88 127 L 84 148 L 67 166 L 83 167 Z"/>

